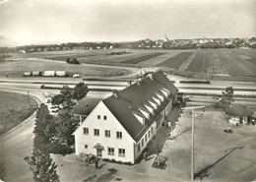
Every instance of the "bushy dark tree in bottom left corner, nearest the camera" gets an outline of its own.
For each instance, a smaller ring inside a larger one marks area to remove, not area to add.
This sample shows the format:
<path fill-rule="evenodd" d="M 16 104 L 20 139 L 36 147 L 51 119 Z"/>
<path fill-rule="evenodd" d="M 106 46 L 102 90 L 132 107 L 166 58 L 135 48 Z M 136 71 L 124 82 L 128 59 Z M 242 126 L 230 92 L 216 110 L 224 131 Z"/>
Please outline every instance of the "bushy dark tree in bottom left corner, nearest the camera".
<path fill-rule="evenodd" d="M 57 164 L 52 161 L 48 152 L 33 149 L 32 156 L 26 156 L 24 159 L 30 164 L 35 182 L 59 182 Z"/>

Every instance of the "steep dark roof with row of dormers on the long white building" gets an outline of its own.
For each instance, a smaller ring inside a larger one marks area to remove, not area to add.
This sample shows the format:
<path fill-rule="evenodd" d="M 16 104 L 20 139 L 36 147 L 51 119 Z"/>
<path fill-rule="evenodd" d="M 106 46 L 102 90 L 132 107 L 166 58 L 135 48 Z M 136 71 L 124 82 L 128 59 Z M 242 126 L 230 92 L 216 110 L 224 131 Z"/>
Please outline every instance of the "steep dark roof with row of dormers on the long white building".
<path fill-rule="evenodd" d="M 168 98 L 160 91 L 163 89 L 171 92 Z M 111 95 L 102 101 L 129 135 L 138 142 L 155 121 L 155 116 L 150 114 L 150 119 L 148 120 L 145 118 L 145 125 L 143 125 L 138 121 L 133 113 L 143 116 L 143 113 L 140 110 L 147 110 L 145 105 L 150 104 L 148 100 L 157 103 L 152 99 L 152 97 L 158 98 L 156 93 L 163 96 L 165 100 L 170 100 L 177 91 L 178 90 L 173 86 L 173 84 L 161 71 L 159 71 L 153 74 L 153 79 L 147 77 L 138 83 L 117 92 L 117 96 Z M 163 102 L 163 104 L 167 104 L 167 102 Z M 158 107 L 158 110 L 155 111 L 155 113 L 160 113 L 162 109 L 163 107 Z"/>

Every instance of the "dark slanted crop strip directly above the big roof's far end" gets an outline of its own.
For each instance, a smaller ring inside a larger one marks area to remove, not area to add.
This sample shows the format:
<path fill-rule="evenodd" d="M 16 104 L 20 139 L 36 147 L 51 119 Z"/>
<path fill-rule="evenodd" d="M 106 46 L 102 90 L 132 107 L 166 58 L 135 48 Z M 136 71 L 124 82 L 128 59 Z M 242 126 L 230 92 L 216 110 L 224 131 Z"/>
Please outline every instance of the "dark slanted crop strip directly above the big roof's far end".
<path fill-rule="evenodd" d="M 179 54 L 168 58 L 164 62 L 160 63 L 159 66 L 169 67 L 178 69 L 192 54 L 193 52 L 180 52 Z"/>

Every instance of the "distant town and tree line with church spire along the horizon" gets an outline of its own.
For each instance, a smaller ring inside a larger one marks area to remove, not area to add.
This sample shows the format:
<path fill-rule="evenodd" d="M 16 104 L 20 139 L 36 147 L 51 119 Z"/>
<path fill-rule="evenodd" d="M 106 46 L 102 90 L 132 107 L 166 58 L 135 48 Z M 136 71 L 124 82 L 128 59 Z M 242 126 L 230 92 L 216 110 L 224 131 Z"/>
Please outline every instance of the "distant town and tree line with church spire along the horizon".
<path fill-rule="evenodd" d="M 256 37 L 246 38 L 194 38 L 194 39 L 164 39 L 150 38 L 128 42 L 68 42 L 47 45 L 23 45 L 16 47 L 0 47 L 0 53 L 32 53 L 59 50 L 93 50 L 93 49 L 207 49 L 207 48 L 256 48 Z"/>

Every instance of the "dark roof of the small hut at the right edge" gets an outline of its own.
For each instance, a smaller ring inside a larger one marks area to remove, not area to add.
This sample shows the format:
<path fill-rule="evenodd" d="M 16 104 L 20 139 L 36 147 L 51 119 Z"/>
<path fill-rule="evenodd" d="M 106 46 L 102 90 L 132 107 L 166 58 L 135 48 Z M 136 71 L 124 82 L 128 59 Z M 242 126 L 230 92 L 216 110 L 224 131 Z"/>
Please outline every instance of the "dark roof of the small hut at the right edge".
<path fill-rule="evenodd" d="M 232 116 L 252 116 L 253 112 L 242 105 L 233 105 L 232 107 L 224 108 L 224 112 Z"/>

